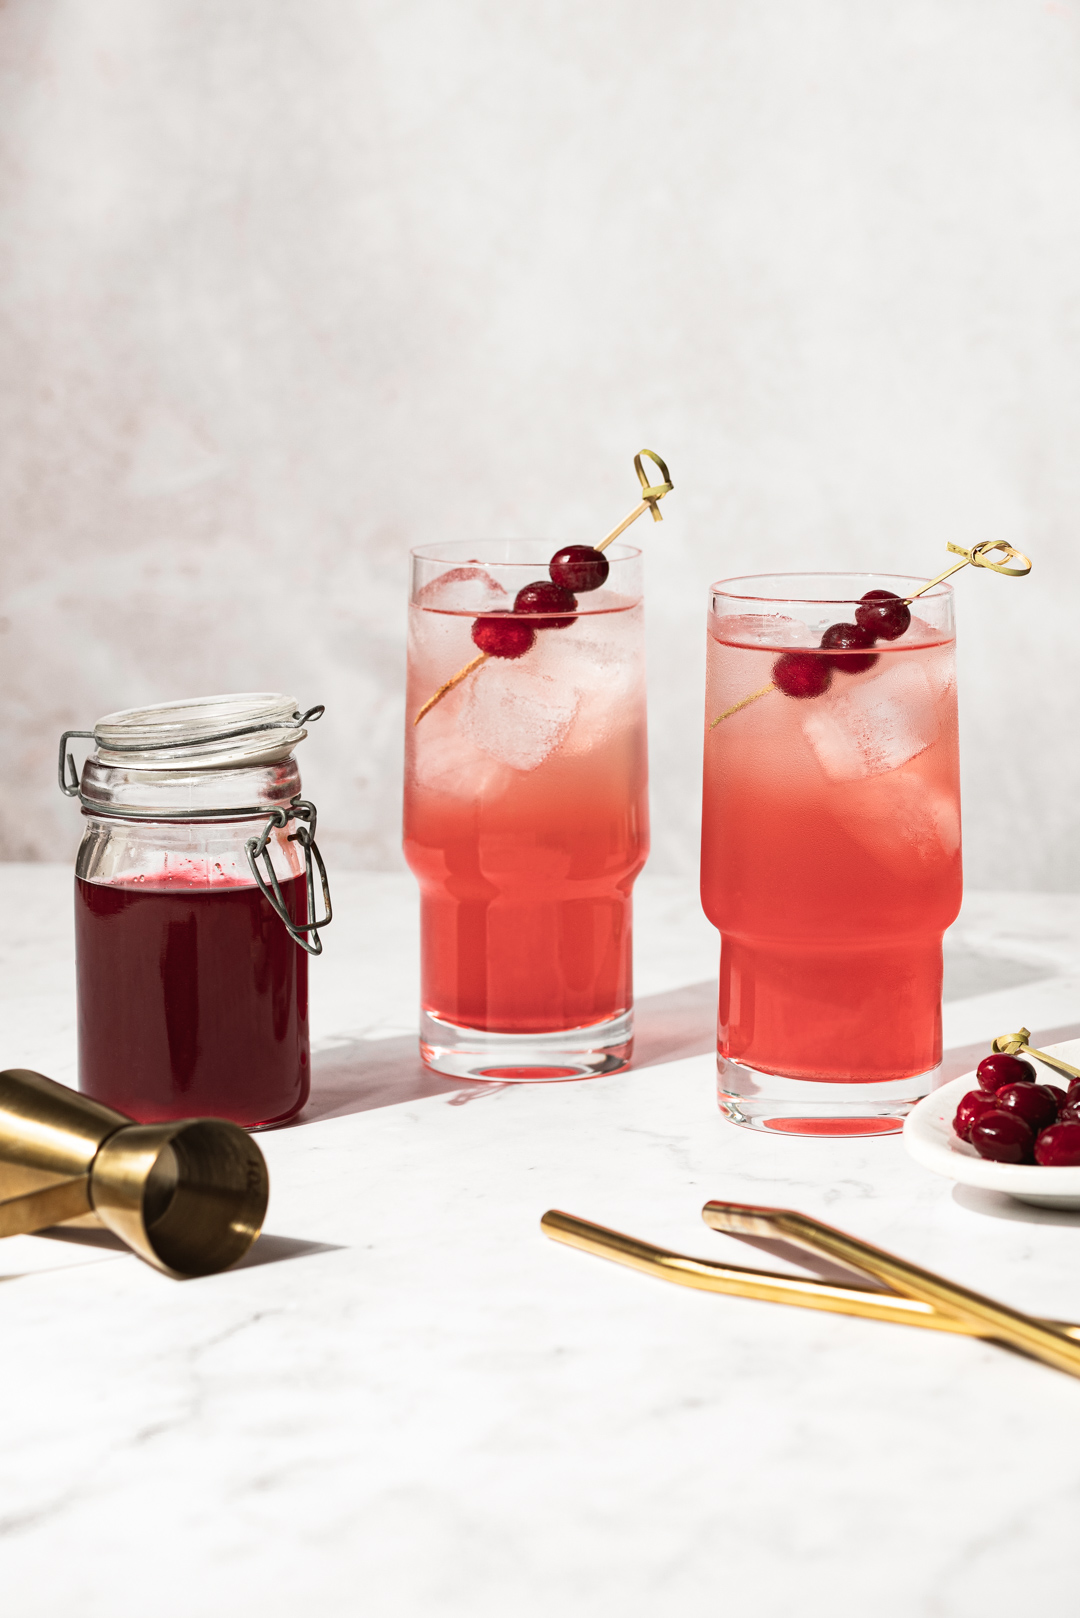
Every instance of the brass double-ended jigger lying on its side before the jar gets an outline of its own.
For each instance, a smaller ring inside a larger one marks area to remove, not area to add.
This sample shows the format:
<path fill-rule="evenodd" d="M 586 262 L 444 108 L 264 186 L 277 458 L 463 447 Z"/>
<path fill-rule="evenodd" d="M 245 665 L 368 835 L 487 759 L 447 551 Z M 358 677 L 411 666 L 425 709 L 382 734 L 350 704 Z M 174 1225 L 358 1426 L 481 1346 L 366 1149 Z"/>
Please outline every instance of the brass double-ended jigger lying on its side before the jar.
<path fill-rule="evenodd" d="M 165 1275 L 214 1275 L 243 1259 L 269 1196 L 235 1123 L 133 1123 L 40 1073 L 0 1073 L 0 1236 L 91 1214 Z"/>

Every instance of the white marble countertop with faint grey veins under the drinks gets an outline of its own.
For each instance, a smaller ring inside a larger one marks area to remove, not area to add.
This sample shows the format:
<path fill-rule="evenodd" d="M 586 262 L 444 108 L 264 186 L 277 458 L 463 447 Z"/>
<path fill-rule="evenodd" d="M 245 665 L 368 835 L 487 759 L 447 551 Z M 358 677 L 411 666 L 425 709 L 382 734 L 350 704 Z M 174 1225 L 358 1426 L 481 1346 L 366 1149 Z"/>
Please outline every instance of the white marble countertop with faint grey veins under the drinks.
<path fill-rule="evenodd" d="M 70 885 L 0 867 L 0 1026 L 5 1066 L 74 1082 Z M 716 935 L 691 882 L 646 874 L 636 943 L 630 1073 L 453 1086 L 416 1057 L 411 879 L 337 875 L 313 1102 L 259 1137 L 272 1194 L 248 1260 L 175 1283 L 104 1233 L 0 1247 L 13 1613 L 1067 1610 L 1078 1382 L 541 1236 L 562 1207 L 776 1267 L 699 1210 L 785 1204 L 1080 1320 L 1080 1215 L 955 1189 L 895 1136 L 721 1118 Z M 1002 1027 L 1080 1034 L 1080 895 L 972 895 L 946 993 L 949 1074 Z"/>

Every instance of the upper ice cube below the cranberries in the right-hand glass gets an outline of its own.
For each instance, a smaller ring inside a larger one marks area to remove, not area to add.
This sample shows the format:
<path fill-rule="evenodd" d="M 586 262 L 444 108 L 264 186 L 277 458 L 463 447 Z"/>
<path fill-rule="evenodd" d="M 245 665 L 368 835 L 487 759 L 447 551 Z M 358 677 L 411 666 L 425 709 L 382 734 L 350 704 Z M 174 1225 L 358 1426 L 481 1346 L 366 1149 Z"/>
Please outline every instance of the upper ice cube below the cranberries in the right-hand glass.
<path fill-rule="evenodd" d="M 837 671 L 832 689 L 806 702 L 803 731 L 832 781 L 899 770 L 938 739 L 934 691 L 920 663 L 887 654 L 873 675 Z"/>

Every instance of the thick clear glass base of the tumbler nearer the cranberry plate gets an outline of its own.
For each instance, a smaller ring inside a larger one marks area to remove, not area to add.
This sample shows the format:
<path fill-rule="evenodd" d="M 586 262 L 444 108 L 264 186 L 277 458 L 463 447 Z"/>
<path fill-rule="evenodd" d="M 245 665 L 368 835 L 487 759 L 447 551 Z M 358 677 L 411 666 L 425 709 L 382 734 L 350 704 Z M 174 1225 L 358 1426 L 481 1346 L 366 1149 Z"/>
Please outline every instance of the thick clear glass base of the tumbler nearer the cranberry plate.
<path fill-rule="evenodd" d="M 938 1086 L 941 1068 L 884 1084 L 784 1079 L 730 1057 L 716 1058 L 721 1112 L 769 1134 L 897 1134 L 912 1107 Z"/>

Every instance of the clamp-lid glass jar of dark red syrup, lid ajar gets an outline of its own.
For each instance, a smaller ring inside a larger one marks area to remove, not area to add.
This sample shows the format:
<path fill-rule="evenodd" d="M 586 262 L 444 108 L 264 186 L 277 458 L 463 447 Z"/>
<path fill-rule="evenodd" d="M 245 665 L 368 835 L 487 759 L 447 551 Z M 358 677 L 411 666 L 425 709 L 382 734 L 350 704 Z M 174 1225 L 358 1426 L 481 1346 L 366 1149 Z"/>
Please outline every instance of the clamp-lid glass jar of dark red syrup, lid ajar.
<path fill-rule="evenodd" d="M 139 1123 L 210 1115 L 248 1129 L 308 1100 L 308 956 L 332 911 L 293 748 L 321 715 L 257 691 L 63 733 L 60 790 L 87 822 L 74 883 L 86 1095 Z M 76 736 L 96 743 L 81 775 Z"/>

